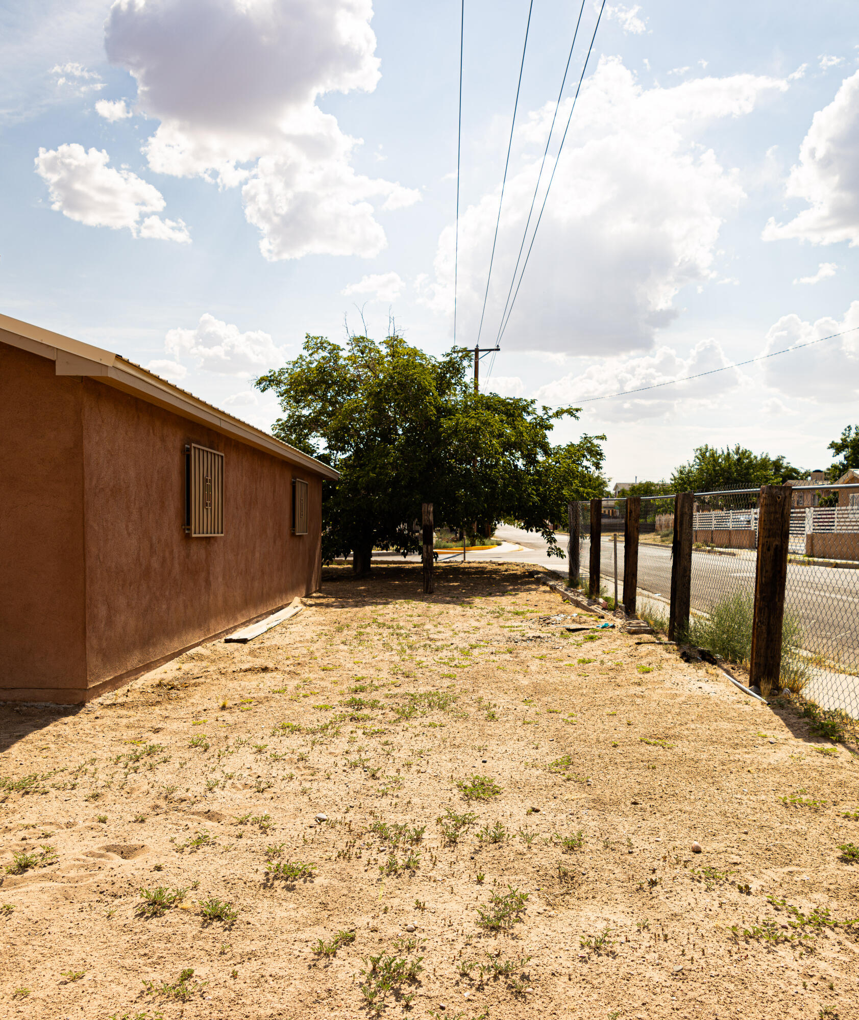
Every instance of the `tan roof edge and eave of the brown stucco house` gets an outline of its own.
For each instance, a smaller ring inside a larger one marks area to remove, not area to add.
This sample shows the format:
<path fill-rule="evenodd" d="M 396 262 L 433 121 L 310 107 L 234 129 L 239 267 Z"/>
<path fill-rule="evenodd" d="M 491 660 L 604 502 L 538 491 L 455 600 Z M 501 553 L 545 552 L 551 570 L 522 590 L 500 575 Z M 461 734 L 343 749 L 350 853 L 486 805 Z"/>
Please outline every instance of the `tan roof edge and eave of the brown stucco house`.
<path fill-rule="evenodd" d="M 315 457 L 308 457 L 288 443 L 282 443 L 261 428 L 249 425 L 212 404 L 207 404 L 118 354 L 1 314 L 0 341 L 50 359 L 55 363 L 57 375 L 86 375 L 96 378 L 115 390 L 121 390 L 139 400 L 172 411 L 183 418 L 197 421 L 240 443 L 246 443 L 248 446 L 256 447 L 257 450 L 319 474 L 323 478 L 336 480 L 340 477 L 339 471 L 316 460 Z"/>

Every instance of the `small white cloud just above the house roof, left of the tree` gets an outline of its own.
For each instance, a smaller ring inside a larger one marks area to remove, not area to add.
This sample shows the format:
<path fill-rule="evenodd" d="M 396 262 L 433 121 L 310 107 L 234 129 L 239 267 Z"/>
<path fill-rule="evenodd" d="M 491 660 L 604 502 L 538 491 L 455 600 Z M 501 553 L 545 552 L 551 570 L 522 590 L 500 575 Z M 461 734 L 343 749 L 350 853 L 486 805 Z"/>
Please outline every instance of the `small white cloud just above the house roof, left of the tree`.
<path fill-rule="evenodd" d="M 261 329 L 242 333 L 208 312 L 195 329 L 170 329 L 164 348 L 176 359 L 193 358 L 199 368 L 226 375 L 244 377 L 284 363 L 283 352 L 269 334 Z"/>

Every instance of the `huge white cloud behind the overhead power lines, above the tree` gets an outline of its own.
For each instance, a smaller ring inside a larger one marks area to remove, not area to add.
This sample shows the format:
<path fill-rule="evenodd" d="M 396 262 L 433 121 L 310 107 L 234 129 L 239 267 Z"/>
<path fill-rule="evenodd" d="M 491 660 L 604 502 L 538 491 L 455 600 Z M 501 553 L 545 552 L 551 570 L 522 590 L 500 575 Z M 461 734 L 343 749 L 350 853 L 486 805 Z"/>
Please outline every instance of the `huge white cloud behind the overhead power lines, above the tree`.
<path fill-rule="evenodd" d="M 618 58 L 603 57 L 583 87 L 505 347 L 571 354 L 649 348 L 678 314 L 679 290 L 718 278 L 719 230 L 745 198 L 738 172 L 697 143 L 702 125 L 740 117 L 762 95 L 787 88 L 780 80 L 736 74 L 645 89 Z M 518 142 L 545 143 L 552 112 L 547 104 L 525 118 Z M 487 341 L 497 335 L 539 166 L 529 158 L 519 165 L 505 191 Z M 463 336 L 477 334 L 497 215 L 496 191 L 460 217 Z M 421 300 L 450 319 L 453 282 L 450 225 L 439 241 L 435 280 L 420 285 Z"/>

